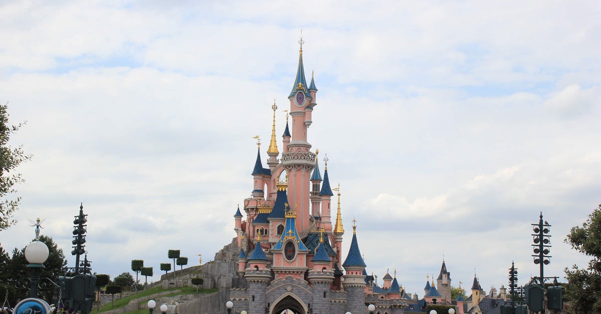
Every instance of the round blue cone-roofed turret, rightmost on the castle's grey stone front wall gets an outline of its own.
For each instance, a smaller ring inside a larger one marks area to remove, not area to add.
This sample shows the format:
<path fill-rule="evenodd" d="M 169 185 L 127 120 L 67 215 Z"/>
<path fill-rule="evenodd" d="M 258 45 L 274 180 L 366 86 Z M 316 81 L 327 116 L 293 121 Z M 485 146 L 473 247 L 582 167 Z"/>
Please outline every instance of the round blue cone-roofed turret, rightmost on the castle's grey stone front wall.
<path fill-rule="evenodd" d="M 349 254 L 342 264 L 346 274 L 344 275 L 344 291 L 347 292 L 347 310 L 352 313 L 363 313 L 365 311 L 365 262 L 359 251 L 357 243 L 356 225 L 353 220 L 353 239 L 350 242 Z"/>

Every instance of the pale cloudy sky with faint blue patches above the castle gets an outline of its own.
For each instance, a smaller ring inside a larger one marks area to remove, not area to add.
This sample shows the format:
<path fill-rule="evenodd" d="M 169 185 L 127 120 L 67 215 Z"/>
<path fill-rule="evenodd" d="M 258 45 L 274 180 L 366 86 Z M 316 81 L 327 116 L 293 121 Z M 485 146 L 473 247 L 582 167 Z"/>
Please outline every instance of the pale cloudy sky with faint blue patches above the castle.
<path fill-rule="evenodd" d="M 564 238 L 601 203 L 599 16 L 593 1 L 0 2 L 0 102 L 32 155 L 0 242 L 25 247 L 40 217 L 74 266 L 83 202 L 95 272 L 142 259 L 150 282 L 170 249 L 212 260 L 274 98 L 281 138 L 302 29 L 343 256 L 355 218 L 368 273 L 396 269 L 407 292 L 443 259 L 453 286 L 507 286 L 512 260 L 523 284 L 542 212 L 545 274 L 563 277 L 588 261 Z"/>

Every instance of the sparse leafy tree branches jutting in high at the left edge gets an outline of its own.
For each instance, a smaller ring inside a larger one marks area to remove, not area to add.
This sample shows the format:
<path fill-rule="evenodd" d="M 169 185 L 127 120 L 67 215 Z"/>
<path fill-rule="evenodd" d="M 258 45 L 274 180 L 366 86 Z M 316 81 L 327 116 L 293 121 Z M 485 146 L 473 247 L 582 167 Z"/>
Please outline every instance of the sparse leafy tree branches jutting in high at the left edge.
<path fill-rule="evenodd" d="M 10 147 L 8 140 L 25 123 L 8 125 L 8 105 L 0 105 L 0 231 L 16 224 L 13 214 L 19 208 L 20 197 L 14 200 L 5 199 L 8 194 L 16 191 L 14 185 L 24 180 L 20 173 L 14 173 L 15 168 L 23 161 L 31 159 L 31 155 L 23 152 L 22 146 Z"/>

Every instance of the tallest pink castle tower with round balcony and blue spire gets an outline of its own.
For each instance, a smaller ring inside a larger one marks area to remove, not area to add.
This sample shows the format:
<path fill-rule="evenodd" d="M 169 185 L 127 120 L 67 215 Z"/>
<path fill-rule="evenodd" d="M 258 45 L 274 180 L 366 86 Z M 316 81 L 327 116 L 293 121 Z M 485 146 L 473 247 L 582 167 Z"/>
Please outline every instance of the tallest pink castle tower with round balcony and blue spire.
<path fill-rule="evenodd" d="M 311 170 L 315 167 L 316 154 L 310 152 L 311 144 L 307 141 L 307 129 L 311 125 L 311 112 L 317 105 L 315 84 L 311 76 L 311 85 L 307 85 L 305 69 L 302 63 L 301 37 L 299 44 L 299 64 L 296 70 L 296 79 L 288 95 L 290 100 L 290 115 L 292 117 L 292 138 L 282 153 L 281 162 L 288 173 L 288 201 L 290 207 L 296 210 L 299 230 L 305 230 L 315 220 L 309 219 L 311 208 L 310 177 Z"/>

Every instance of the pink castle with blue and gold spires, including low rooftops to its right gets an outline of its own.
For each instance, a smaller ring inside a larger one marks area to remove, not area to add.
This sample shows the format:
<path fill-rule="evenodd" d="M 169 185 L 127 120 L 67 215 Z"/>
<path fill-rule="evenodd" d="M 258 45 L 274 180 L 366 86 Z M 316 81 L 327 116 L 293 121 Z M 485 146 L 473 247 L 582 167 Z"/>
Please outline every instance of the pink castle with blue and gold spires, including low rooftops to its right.
<path fill-rule="evenodd" d="M 276 140 L 275 112 L 267 148 L 267 168 L 261 161 L 260 141 L 252 170 L 251 197 L 243 200 L 234 214 L 237 258 L 237 285 L 230 290 L 236 313 L 367 313 L 374 304 L 379 314 L 425 312 L 426 304 L 448 304 L 457 313 L 481 313 L 478 304 L 484 299 L 474 278 L 472 296 L 451 300 L 451 277 L 443 260 L 435 286 L 427 280 L 424 298 L 407 294 L 388 272 L 383 284 L 370 276 L 359 250 L 356 222 L 350 248 L 343 256 L 344 227 L 341 218 L 340 188 L 332 188 L 328 176 L 328 159 L 324 158 L 323 176 L 319 168 L 319 151 L 311 152 L 308 128 L 317 107 L 314 75 L 307 84 L 303 65 L 302 38 L 299 41 L 296 78 L 288 99 L 290 107 L 280 155 Z M 279 156 L 279 159 L 278 159 Z M 337 192 L 337 206 L 332 221 L 332 197 Z M 242 219 L 245 213 L 246 218 Z M 343 258 L 344 257 L 344 258 Z M 503 292 L 504 289 L 502 288 Z M 491 292 L 492 293 L 492 292 Z M 493 311 L 494 312 L 494 311 Z"/>

